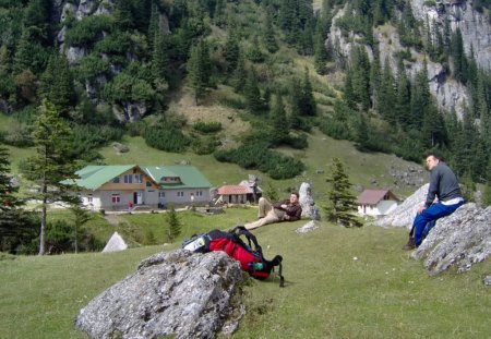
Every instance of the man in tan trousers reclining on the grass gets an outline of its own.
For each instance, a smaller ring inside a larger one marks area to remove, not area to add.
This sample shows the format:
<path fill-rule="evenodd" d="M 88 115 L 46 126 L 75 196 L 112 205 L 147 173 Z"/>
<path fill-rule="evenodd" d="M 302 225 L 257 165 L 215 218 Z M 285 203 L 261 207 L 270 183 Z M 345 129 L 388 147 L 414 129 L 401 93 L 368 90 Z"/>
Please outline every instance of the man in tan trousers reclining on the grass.
<path fill-rule="evenodd" d="M 299 220 L 301 215 L 302 207 L 298 202 L 297 192 L 292 192 L 289 199 L 277 202 L 274 205 L 266 198 L 261 197 L 258 210 L 259 219 L 244 226 L 248 230 L 252 230 L 267 223 Z"/>

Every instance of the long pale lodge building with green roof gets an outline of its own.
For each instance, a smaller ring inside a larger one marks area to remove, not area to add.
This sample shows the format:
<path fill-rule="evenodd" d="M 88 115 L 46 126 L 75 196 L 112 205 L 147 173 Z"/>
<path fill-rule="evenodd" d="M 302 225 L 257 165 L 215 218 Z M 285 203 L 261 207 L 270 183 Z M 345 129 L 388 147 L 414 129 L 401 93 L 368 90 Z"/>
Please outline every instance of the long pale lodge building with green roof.
<path fill-rule="evenodd" d="M 93 209 L 164 208 L 168 204 L 204 205 L 212 184 L 193 166 L 87 166 L 76 185 L 84 205 Z"/>

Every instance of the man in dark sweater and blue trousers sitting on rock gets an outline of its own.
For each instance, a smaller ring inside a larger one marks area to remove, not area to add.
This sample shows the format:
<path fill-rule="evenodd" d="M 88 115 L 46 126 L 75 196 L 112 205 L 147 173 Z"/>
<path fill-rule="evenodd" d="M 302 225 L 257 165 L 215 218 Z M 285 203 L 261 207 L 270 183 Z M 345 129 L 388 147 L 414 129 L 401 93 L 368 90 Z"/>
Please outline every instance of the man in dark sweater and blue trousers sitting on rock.
<path fill-rule="evenodd" d="M 434 154 L 429 154 L 426 161 L 431 172 L 430 187 L 424 205 L 418 208 L 404 250 L 418 247 L 438 219 L 453 214 L 464 204 L 457 177 L 450 167 Z"/>

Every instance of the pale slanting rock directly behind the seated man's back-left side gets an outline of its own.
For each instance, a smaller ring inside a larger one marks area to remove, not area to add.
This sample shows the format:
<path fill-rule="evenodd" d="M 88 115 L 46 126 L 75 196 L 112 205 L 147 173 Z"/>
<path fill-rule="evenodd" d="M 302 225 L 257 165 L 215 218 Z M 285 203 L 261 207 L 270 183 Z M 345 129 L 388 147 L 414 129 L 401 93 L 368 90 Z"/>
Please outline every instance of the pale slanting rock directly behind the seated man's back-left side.
<path fill-rule="evenodd" d="M 422 205 L 427 198 L 429 184 L 422 185 L 411 196 L 398 205 L 394 211 L 372 222 L 380 227 L 406 227 L 411 228 L 412 220 L 416 217 L 418 206 Z"/>

